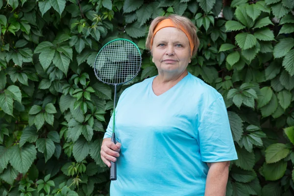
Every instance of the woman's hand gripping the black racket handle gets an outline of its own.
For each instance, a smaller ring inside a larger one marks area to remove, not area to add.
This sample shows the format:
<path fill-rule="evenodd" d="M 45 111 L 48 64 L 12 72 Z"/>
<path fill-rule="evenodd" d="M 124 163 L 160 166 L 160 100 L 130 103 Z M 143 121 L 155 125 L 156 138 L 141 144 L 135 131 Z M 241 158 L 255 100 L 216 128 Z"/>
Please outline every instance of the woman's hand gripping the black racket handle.
<path fill-rule="evenodd" d="M 101 159 L 102 161 L 110 168 L 111 164 L 110 161 L 116 162 L 116 157 L 120 156 L 120 151 L 122 144 L 121 143 L 116 143 L 114 144 L 113 142 L 110 141 L 111 138 L 105 138 L 102 142 L 101 146 Z"/>

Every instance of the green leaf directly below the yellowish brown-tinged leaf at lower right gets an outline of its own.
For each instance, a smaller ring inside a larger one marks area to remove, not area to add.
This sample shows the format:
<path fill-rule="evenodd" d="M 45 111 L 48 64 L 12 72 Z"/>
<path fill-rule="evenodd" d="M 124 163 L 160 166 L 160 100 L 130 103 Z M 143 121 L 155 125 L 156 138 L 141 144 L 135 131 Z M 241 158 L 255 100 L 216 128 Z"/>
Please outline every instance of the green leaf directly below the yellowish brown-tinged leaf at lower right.
<path fill-rule="evenodd" d="M 287 169 L 287 162 L 279 161 L 277 163 L 266 164 L 262 167 L 263 175 L 266 180 L 274 181 L 278 180 L 285 174 Z"/>

